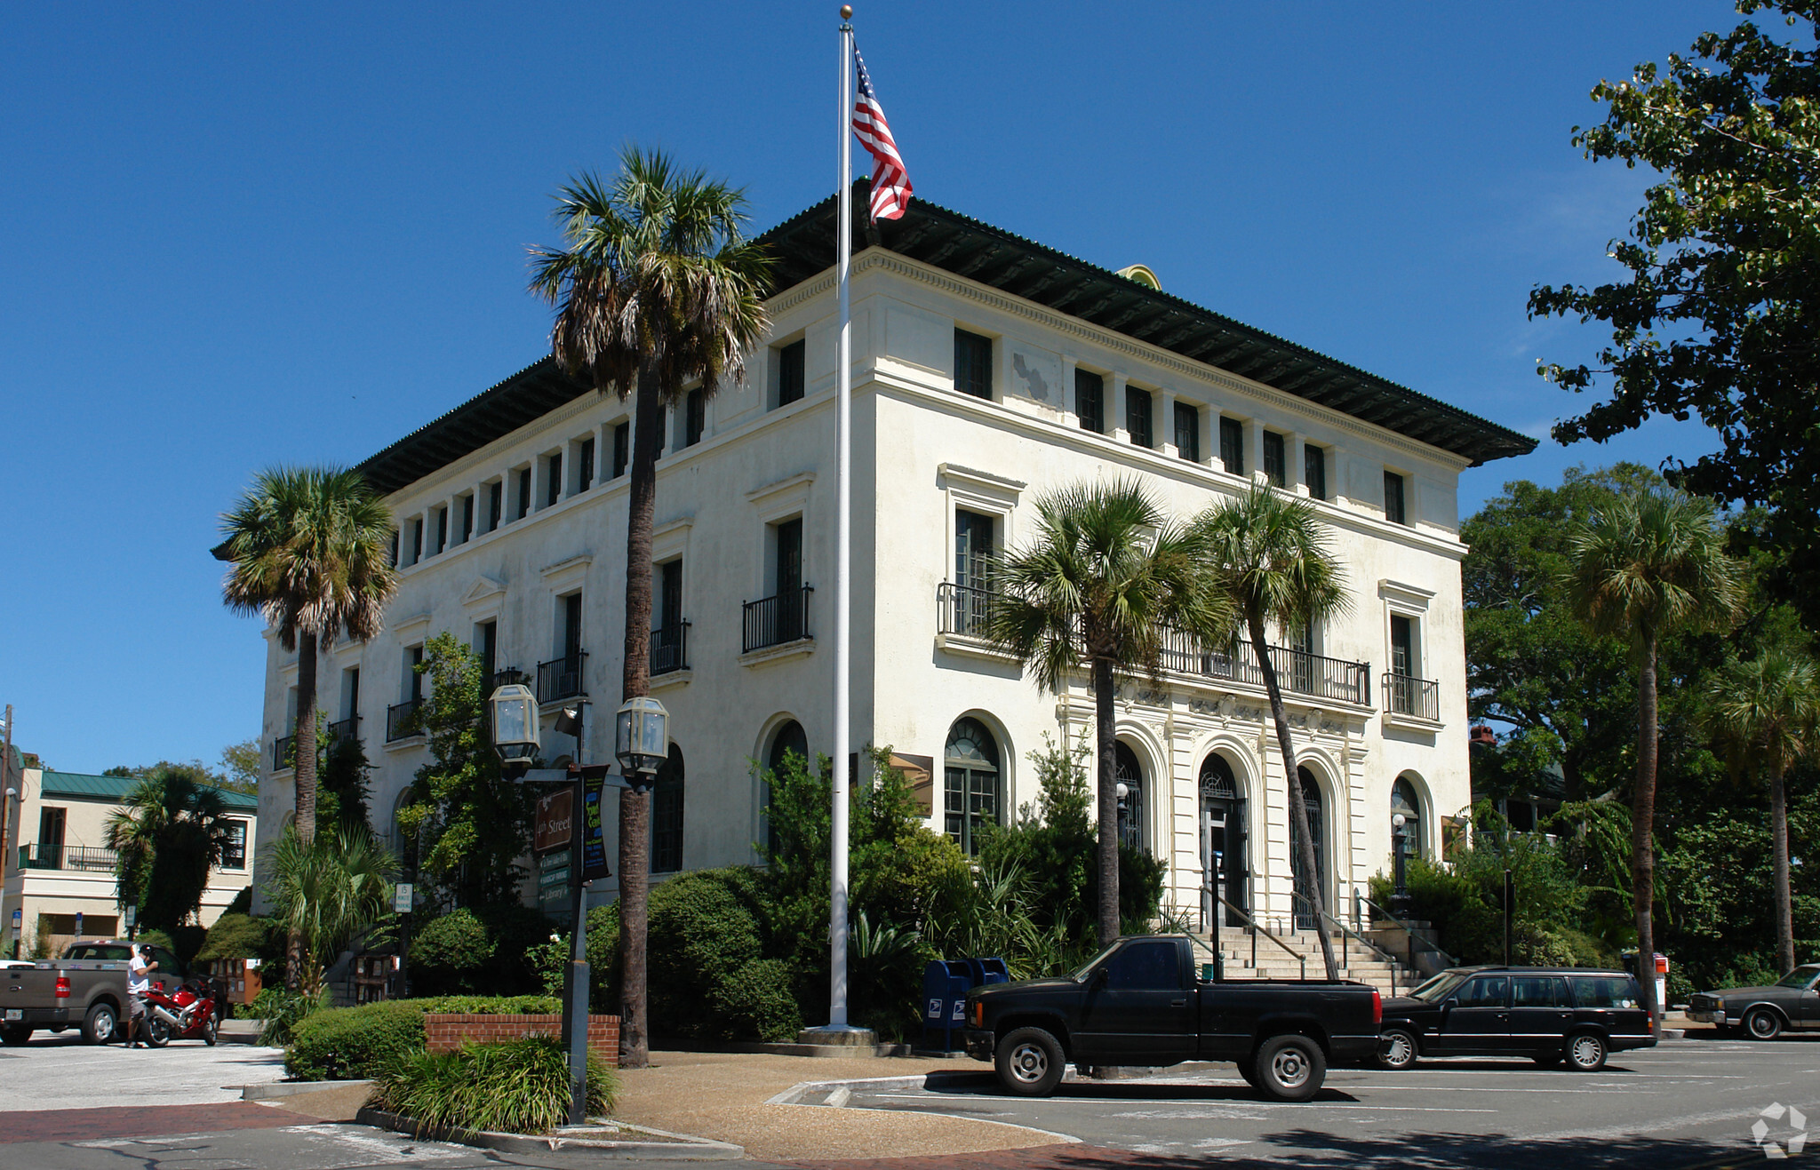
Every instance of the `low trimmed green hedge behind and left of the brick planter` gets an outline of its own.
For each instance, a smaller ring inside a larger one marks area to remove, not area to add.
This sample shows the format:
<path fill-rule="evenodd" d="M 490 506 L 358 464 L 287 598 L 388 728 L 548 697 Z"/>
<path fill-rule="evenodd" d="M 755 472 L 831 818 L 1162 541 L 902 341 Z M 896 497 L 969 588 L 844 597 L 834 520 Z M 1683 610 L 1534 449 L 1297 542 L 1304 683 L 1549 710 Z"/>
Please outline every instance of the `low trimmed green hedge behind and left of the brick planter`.
<path fill-rule="evenodd" d="M 298 1081 L 326 1081 L 333 1054 L 337 1079 L 373 1077 L 388 1061 L 424 1046 L 426 1014 L 550 1015 L 561 1010 L 550 995 L 435 995 L 329 1008 L 291 1028 L 284 1070 Z"/>

